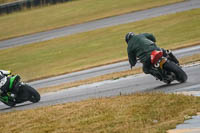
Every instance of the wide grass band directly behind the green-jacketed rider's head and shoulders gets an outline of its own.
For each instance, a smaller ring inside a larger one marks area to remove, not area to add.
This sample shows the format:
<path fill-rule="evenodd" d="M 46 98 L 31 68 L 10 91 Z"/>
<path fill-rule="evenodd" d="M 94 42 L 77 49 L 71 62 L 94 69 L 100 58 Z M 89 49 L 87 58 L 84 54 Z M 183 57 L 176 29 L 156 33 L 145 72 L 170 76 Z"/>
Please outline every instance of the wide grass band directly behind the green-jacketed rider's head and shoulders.
<path fill-rule="evenodd" d="M 150 32 L 157 44 L 178 48 L 200 41 L 200 9 L 0 50 L 1 69 L 38 79 L 127 59 L 124 35 Z"/>

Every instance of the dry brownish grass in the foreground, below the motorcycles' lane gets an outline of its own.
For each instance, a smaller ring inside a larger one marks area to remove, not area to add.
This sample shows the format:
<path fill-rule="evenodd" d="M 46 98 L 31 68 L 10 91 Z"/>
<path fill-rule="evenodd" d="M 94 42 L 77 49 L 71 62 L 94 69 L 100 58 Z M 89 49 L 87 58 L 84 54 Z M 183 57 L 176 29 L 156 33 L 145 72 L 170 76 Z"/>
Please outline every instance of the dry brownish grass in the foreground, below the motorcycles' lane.
<path fill-rule="evenodd" d="M 0 113 L 0 131 L 165 133 L 199 111 L 199 97 L 143 93 Z"/>

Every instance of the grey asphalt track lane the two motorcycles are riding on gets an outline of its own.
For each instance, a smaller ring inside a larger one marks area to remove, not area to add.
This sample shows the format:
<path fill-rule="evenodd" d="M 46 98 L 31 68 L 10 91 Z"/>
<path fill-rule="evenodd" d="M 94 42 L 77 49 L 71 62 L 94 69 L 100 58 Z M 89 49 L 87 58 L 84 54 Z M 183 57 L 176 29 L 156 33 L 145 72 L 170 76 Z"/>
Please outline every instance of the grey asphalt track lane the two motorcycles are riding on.
<path fill-rule="evenodd" d="M 60 103 L 75 102 L 91 98 L 110 97 L 137 92 L 200 92 L 200 64 L 185 66 L 183 69 L 186 71 L 189 77 L 188 81 L 183 84 L 173 82 L 171 85 L 166 85 L 163 82 L 155 80 L 151 75 L 138 74 L 117 80 L 106 80 L 103 82 L 82 85 L 58 92 L 46 93 L 42 95 L 41 101 L 36 104 L 30 104 L 27 102 L 22 105 L 18 105 L 15 108 L 8 108 L 6 105 L 0 104 L 0 112 L 23 110 Z"/>

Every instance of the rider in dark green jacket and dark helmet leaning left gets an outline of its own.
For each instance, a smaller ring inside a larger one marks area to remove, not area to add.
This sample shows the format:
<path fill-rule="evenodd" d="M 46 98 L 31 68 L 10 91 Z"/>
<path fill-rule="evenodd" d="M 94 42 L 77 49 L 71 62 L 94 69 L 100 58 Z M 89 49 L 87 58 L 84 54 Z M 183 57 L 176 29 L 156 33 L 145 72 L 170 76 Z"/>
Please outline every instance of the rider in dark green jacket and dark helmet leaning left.
<path fill-rule="evenodd" d="M 157 47 L 156 38 L 153 34 L 143 33 L 136 35 L 133 32 L 129 32 L 125 36 L 125 41 L 128 44 L 127 53 L 131 69 L 137 63 L 137 59 L 139 59 L 143 64 L 143 72 L 145 74 L 151 74 L 156 77 L 156 79 L 162 81 L 164 77 L 160 74 L 160 72 L 152 69 L 151 66 L 150 55 L 154 50 L 163 51 L 164 56 L 168 56 L 170 60 L 179 65 L 179 61 L 172 54 L 172 52 Z"/>

